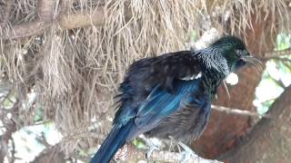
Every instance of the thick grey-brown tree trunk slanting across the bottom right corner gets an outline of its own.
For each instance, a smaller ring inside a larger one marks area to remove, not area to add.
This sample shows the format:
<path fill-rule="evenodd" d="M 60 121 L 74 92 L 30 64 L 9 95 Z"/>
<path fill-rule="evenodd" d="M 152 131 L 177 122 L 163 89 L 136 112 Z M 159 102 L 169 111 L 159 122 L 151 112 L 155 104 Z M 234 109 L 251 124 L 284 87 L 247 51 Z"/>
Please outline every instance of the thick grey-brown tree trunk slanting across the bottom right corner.
<path fill-rule="evenodd" d="M 239 148 L 228 152 L 226 162 L 290 162 L 291 85 L 268 111 L 271 119 L 260 120 Z"/>

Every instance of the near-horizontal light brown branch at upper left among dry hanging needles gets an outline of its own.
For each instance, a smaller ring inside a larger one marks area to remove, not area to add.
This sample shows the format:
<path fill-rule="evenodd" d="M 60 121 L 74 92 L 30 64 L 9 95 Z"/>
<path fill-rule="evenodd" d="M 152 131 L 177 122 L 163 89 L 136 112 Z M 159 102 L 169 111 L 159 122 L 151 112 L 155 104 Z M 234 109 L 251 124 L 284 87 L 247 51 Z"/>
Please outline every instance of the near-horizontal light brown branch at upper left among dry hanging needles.
<path fill-rule="evenodd" d="M 60 14 L 57 19 L 52 22 L 44 22 L 41 20 L 17 24 L 4 30 L 4 34 L 0 34 L 0 39 L 20 39 L 27 36 L 43 34 L 45 29 L 53 24 L 59 24 L 65 29 L 73 29 L 77 27 L 85 27 L 88 25 L 101 25 L 105 23 L 105 11 L 102 7 L 96 7 L 92 13 L 78 11 L 75 14 Z"/>

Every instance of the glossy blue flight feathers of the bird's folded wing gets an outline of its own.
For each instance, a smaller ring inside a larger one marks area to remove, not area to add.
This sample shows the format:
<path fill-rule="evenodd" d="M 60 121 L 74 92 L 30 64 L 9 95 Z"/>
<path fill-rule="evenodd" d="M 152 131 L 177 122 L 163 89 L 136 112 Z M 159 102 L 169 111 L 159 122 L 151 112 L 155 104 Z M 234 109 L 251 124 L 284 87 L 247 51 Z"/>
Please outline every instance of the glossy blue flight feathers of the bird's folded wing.
<path fill-rule="evenodd" d="M 195 99 L 189 100 L 187 97 L 199 92 L 200 82 L 201 80 L 179 80 L 175 82 L 176 93 L 170 93 L 158 87 L 154 89 L 146 101 L 137 108 L 134 118 L 135 129 L 131 130 L 127 139 L 135 138 L 141 133 L 156 128 L 167 117 L 195 103 Z M 196 108 L 192 111 L 195 112 Z"/>

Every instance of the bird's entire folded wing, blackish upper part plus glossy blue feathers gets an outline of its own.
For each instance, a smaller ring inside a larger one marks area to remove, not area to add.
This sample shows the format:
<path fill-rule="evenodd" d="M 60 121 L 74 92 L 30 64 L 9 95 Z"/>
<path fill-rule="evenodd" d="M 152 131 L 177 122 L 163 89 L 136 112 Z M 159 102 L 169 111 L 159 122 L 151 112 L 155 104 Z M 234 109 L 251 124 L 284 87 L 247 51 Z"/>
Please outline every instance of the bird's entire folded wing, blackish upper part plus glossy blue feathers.
<path fill-rule="evenodd" d="M 170 114 L 178 108 L 186 91 L 196 87 L 196 80 L 189 79 L 194 79 L 199 72 L 199 64 L 190 51 L 133 63 L 120 85 L 115 124 L 123 125 L 135 118 L 135 123 L 142 125 Z M 146 120 L 147 116 L 153 116 L 152 120 Z"/>

